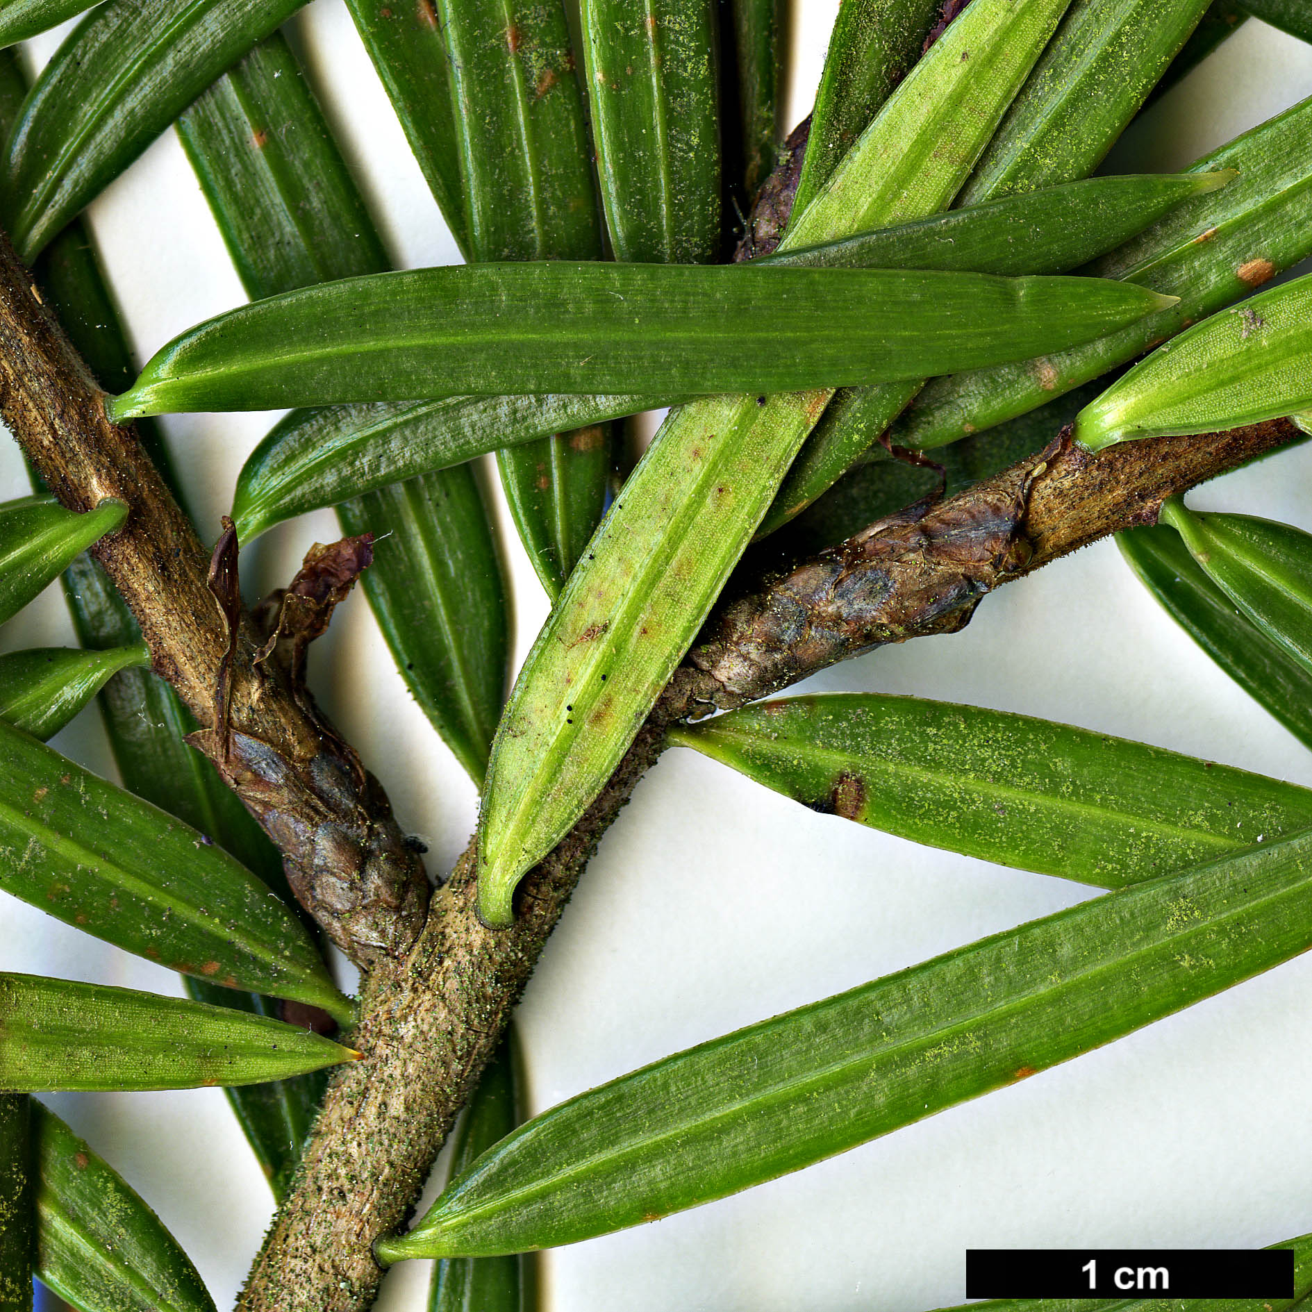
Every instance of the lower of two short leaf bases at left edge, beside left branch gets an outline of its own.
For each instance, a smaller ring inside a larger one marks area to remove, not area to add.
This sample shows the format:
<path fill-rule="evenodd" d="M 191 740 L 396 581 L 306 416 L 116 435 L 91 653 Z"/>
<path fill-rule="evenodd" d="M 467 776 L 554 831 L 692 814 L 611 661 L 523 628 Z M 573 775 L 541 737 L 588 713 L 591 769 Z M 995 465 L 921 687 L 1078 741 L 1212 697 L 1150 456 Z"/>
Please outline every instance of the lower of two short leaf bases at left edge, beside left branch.
<path fill-rule="evenodd" d="M 144 669 L 146 644 L 83 651 L 34 647 L 0 656 L 0 719 L 45 741 L 54 737 L 121 669 Z"/>

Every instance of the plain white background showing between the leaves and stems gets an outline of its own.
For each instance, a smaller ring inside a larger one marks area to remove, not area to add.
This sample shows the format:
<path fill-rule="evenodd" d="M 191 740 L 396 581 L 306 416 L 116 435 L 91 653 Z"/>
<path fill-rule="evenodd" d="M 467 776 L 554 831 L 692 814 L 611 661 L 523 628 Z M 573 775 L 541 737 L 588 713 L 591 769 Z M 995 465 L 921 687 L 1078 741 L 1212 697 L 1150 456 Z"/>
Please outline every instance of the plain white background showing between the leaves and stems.
<path fill-rule="evenodd" d="M 789 122 L 810 108 L 834 0 L 799 0 Z M 298 43 L 400 265 L 455 248 L 341 0 Z M 33 43 L 37 60 L 52 34 Z M 1118 147 L 1119 171 L 1190 160 L 1312 93 L 1312 50 L 1250 22 Z M 172 134 L 91 210 L 142 354 L 243 299 Z M 273 416 L 167 420 L 213 537 Z M 25 491 L 12 449 L 0 495 Z M 1312 446 L 1224 479 L 1200 508 L 1312 529 Z M 251 596 L 336 537 L 331 514 L 243 559 Z M 522 655 L 546 605 L 510 547 Z M 0 646 L 71 643 L 51 589 Z M 367 672 L 367 678 L 365 677 Z M 312 682 L 449 866 L 475 817 L 463 771 L 411 703 L 363 597 L 316 644 Z M 816 689 L 914 693 L 1026 711 L 1312 785 L 1312 756 L 1231 684 L 1111 544 L 989 598 L 963 634 L 893 648 Z M 56 745 L 110 771 L 93 714 Z M 1068 907 L 1089 891 L 824 817 L 673 750 L 607 834 L 521 1010 L 534 1110 L 677 1048 Z M 0 967 L 181 992 L 177 977 L 17 903 Z M 964 1296 L 967 1246 L 1237 1246 L 1312 1229 L 1312 962 L 1292 962 L 1131 1038 L 811 1170 L 543 1260 L 565 1312 L 914 1312 Z M 265 1182 L 215 1089 L 50 1099 L 150 1200 L 226 1307 L 269 1221 Z M 429 1263 L 388 1278 L 419 1309 Z"/>

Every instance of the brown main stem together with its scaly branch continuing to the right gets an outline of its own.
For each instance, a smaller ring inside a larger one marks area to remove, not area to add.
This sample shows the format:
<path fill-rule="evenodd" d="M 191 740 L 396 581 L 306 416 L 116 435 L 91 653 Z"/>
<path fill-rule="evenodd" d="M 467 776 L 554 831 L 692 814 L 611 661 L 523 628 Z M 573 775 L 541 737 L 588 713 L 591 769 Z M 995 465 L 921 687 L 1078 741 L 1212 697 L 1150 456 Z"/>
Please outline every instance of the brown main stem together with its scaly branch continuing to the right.
<path fill-rule="evenodd" d="M 300 1174 L 256 1261 L 244 1312 L 362 1312 L 399 1228 L 493 1051 L 584 865 L 674 720 L 731 707 L 882 643 L 960 628 L 984 593 L 1298 436 L 1275 421 L 1089 455 L 1063 437 L 949 501 L 872 525 L 731 602 L 707 626 L 602 795 L 520 886 L 518 918 L 487 929 L 466 851 L 399 968 L 375 972 Z"/>

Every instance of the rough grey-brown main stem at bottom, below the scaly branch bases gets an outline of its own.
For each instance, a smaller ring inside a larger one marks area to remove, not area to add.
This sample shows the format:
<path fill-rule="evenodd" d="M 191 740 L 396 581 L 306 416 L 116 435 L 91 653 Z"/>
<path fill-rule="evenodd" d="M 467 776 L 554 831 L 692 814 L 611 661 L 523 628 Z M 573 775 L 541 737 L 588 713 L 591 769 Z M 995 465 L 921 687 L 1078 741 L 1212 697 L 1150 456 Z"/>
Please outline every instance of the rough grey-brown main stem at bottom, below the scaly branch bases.
<path fill-rule="evenodd" d="M 404 1223 L 579 875 L 660 753 L 668 723 L 652 716 L 601 796 L 523 880 L 510 929 L 479 920 L 471 844 L 433 895 L 409 959 L 371 972 L 352 1040 L 365 1060 L 340 1067 L 329 1085 L 239 1312 L 373 1303 L 382 1278 L 374 1240 Z"/>

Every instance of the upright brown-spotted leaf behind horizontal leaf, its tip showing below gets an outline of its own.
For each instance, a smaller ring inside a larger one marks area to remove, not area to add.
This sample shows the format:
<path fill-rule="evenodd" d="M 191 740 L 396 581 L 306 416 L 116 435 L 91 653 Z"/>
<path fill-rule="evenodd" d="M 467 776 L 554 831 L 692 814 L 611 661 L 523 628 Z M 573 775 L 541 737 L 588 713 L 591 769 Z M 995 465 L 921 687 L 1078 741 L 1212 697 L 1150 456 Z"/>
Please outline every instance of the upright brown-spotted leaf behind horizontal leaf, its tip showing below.
<path fill-rule="evenodd" d="M 600 260 L 601 215 L 560 0 L 437 0 L 470 257 Z M 426 394 L 425 394 L 426 395 Z M 520 541 L 555 597 L 606 505 L 611 434 L 497 455 Z"/>

